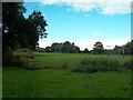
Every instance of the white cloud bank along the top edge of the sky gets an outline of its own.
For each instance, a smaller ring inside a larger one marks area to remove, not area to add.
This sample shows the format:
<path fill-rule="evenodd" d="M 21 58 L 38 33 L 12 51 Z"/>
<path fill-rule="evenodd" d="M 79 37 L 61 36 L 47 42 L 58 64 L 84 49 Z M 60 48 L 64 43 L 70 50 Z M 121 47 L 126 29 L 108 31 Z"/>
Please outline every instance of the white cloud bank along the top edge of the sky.
<path fill-rule="evenodd" d="M 74 11 L 90 12 L 93 10 L 103 14 L 130 13 L 132 0 L 40 0 L 43 4 L 66 4 Z M 70 10 L 70 9 L 69 9 Z"/>

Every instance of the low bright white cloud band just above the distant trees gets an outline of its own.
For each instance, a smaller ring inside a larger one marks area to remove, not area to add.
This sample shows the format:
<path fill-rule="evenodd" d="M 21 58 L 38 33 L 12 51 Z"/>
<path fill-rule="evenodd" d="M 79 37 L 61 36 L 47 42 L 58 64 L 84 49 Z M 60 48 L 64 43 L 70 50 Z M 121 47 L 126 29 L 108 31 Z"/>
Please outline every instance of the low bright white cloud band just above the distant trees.
<path fill-rule="evenodd" d="M 101 41 L 104 49 L 113 49 L 115 46 L 122 46 L 122 44 L 126 44 L 129 41 L 131 41 L 131 38 L 124 38 L 124 39 L 113 39 L 113 40 L 109 40 L 109 39 L 102 39 L 102 38 L 94 38 L 94 39 L 88 39 L 88 40 L 83 40 L 83 41 L 79 41 L 79 40 L 69 40 L 70 42 L 74 42 L 75 46 L 80 47 L 81 50 L 84 50 L 85 48 L 88 48 L 89 50 L 93 49 L 93 46 L 95 42 Z M 45 48 L 48 46 L 51 46 L 53 42 L 64 42 L 64 41 L 60 41 L 60 40 L 40 40 L 39 41 L 39 46 L 41 48 Z"/>

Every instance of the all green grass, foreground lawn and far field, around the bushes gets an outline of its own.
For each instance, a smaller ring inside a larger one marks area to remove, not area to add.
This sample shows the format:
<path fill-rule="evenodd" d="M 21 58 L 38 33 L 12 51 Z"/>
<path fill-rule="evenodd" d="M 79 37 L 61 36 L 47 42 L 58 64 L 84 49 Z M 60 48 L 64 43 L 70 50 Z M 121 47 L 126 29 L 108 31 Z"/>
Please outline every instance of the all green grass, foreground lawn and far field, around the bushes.
<path fill-rule="evenodd" d="M 37 53 L 40 70 L 3 68 L 3 98 L 130 98 L 131 71 L 108 71 L 93 73 L 72 72 L 83 58 L 91 54 Z M 99 56 L 106 58 L 106 56 Z M 124 62 L 130 60 L 112 56 Z M 65 69 L 62 69 L 63 67 Z"/>

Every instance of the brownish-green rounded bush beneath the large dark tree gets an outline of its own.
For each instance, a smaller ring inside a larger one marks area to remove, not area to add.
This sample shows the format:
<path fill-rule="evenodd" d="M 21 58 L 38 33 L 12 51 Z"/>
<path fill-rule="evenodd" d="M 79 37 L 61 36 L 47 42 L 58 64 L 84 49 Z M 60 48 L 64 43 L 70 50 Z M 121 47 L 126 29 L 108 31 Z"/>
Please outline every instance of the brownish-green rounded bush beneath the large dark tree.
<path fill-rule="evenodd" d="M 30 49 L 18 49 L 12 56 L 12 66 L 34 70 L 40 67 L 40 62 L 35 59 L 34 52 Z"/>

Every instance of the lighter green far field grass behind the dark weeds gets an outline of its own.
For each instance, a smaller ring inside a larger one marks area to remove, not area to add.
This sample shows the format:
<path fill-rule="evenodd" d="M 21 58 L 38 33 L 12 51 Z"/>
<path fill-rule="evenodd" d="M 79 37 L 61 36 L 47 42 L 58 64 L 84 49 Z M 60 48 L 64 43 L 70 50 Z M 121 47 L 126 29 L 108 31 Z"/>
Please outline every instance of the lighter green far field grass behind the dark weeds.
<path fill-rule="evenodd" d="M 35 53 L 38 60 L 40 60 L 41 68 L 63 68 L 73 69 L 81 64 L 82 59 L 108 59 L 106 54 L 85 54 L 85 53 Z M 111 56 L 109 59 L 124 63 L 131 59 L 131 56 Z"/>

